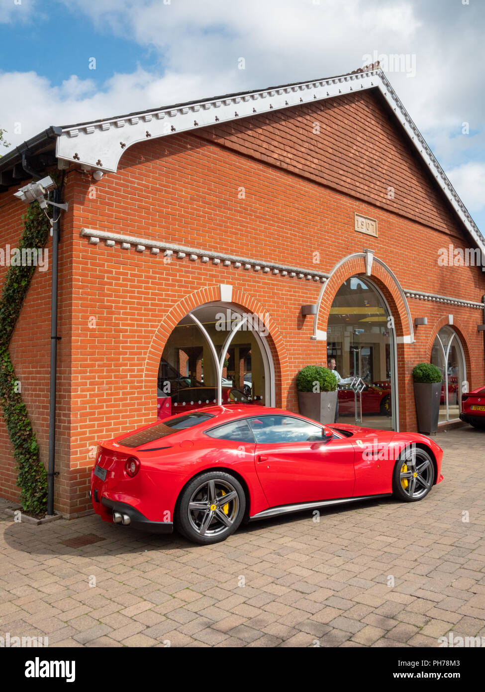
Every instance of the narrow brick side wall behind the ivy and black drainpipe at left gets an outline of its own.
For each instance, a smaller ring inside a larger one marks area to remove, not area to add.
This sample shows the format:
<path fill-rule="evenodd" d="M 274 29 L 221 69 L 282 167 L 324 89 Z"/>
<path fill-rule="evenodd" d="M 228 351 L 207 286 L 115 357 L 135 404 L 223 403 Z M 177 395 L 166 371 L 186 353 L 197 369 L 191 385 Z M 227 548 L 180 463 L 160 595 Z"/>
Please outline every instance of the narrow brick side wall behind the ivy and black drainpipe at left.
<path fill-rule="evenodd" d="M 25 212 L 23 203 L 12 196 L 15 188 L 0 194 L 0 244 L 17 247 L 24 231 L 21 216 Z M 65 194 L 69 200 L 69 192 Z M 66 226 L 71 224 L 72 210 L 64 216 Z M 22 399 L 26 404 L 33 430 L 39 443 L 42 462 L 48 462 L 48 410 L 49 410 L 49 365 L 51 348 L 51 285 L 52 285 L 52 239 L 46 244 L 48 269 L 35 270 L 26 300 L 21 309 L 14 334 L 10 341 L 10 357 L 15 374 L 21 383 Z M 68 511 L 68 491 L 71 444 L 71 308 L 72 296 L 72 238 L 62 233 L 59 264 L 59 320 L 58 329 L 62 337 L 58 341 L 57 369 L 57 470 L 66 471 L 56 481 L 56 509 Z M 8 268 L 0 266 L 0 284 Z M 17 470 L 12 456 L 12 445 L 8 438 L 3 411 L 0 407 L 0 495 L 17 500 Z"/>

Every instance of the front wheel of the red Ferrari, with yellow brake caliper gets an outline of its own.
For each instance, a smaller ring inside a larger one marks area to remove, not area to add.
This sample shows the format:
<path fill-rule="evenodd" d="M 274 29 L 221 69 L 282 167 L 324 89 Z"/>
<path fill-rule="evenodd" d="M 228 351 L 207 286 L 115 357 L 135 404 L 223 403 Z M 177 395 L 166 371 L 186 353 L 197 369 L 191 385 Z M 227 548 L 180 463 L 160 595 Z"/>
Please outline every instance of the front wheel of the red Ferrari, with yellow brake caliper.
<path fill-rule="evenodd" d="M 434 464 L 426 450 L 405 450 L 394 466 L 394 495 L 405 502 L 422 500 L 434 484 Z"/>

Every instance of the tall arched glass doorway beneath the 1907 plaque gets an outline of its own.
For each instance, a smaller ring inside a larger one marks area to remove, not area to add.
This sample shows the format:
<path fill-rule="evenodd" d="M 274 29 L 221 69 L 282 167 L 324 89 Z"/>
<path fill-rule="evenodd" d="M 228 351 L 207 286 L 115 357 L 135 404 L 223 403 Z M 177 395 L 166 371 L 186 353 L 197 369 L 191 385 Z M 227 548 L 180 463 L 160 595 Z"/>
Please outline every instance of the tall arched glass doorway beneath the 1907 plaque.
<path fill-rule="evenodd" d="M 327 358 L 335 358 L 338 420 L 396 430 L 396 343 L 381 291 L 351 276 L 340 286 L 327 322 Z"/>

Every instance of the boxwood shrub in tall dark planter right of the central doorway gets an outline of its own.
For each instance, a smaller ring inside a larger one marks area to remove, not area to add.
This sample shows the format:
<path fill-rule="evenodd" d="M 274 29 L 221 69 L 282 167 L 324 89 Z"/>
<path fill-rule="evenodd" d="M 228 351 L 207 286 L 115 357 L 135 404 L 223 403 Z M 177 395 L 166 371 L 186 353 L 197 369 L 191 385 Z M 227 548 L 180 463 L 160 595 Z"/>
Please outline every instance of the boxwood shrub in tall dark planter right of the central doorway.
<path fill-rule="evenodd" d="M 436 365 L 418 363 L 412 371 L 412 379 L 418 430 L 425 435 L 433 435 L 438 430 L 443 375 Z"/>

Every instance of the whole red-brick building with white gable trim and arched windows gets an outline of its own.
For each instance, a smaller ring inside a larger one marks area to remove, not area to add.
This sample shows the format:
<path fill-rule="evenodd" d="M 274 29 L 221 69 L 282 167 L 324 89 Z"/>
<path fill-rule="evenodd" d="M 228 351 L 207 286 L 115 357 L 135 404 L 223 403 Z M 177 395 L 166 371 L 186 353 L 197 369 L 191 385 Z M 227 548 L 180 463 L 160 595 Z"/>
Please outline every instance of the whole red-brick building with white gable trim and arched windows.
<path fill-rule="evenodd" d="M 366 385 L 342 388 L 342 420 L 396 430 L 416 427 L 416 363 L 443 371 L 442 426 L 461 387 L 485 382 L 485 275 L 453 262 L 485 253 L 483 238 L 378 66 L 50 128 L 0 160 L 3 248 L 22 230 L 12 193 L 53 168 L 68 203 L 55 446 L 66 515 L 89 509 L 97 441 L 155 419 L 167 369 L 203 384 L 168 397 L 172 413 L 231 386 L 298 410 L 298 370 L 334 356 Z M 221 315 L 231 327 L 257 316 L 259 329 L 245 322 L 228 343 Z M 45 461 L 50 320 L 51 266 L 10 343 Z M 16 499 L 3 421 L 0 470 L 0 494 Z"/>

